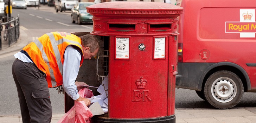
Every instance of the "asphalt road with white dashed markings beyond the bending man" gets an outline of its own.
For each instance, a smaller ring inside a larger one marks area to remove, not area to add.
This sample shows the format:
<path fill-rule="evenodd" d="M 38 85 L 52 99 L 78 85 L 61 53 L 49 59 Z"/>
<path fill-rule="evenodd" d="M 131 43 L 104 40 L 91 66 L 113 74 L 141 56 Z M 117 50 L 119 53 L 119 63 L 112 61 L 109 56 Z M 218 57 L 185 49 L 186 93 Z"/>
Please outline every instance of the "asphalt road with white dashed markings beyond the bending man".
<path fill-rule="evenodd" d="M 71 22 L 71 11 L 56 13 L 54 7 L 41 5 L 27 9 L 13 9 L 12 17 L 20 18 L 20 29 L 28 35 L 28 43 L 45 33 L 61 32 L 91 32 L 92 24 L 78 25 Z"/>

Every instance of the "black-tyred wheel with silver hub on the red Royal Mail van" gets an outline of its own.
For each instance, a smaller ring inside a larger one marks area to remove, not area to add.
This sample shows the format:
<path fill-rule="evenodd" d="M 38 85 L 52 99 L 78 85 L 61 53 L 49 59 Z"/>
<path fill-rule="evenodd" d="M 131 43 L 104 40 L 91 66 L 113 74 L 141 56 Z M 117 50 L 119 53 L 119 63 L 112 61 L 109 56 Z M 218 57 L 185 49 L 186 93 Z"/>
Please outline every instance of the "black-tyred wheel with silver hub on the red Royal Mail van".
<path fill-rule="evenodd" d="M 217 71 L 205 82 L 205 99 L 218 109 L 233 108 L 241 101 L 243 94 L 242 80 L 231 71 Z"/>

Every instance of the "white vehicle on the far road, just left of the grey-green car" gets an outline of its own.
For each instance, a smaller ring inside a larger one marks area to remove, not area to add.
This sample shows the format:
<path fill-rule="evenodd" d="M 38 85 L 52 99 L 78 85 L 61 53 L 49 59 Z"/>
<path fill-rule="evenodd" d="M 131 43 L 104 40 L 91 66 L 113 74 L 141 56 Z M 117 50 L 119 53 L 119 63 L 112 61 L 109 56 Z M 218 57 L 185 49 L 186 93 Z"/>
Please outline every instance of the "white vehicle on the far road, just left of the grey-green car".
<path fill-rule="evenodd" d="M 71 10 L 75 4 L 77 4 L 77 0 L 55 0 L 55 9 L 56 12 Z"/>

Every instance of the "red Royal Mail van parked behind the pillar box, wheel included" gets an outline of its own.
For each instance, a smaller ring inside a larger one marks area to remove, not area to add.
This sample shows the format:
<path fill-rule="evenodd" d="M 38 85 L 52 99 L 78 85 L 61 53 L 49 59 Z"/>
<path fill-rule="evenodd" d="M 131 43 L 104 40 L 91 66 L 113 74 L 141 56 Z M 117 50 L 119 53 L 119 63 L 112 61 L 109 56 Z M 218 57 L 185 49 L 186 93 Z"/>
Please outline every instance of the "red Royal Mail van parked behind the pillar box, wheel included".
<path fill-rule="evenodd" d="M 218 109 L 256 92 L 256 0 L 183 0 L 176 87 Z"/>

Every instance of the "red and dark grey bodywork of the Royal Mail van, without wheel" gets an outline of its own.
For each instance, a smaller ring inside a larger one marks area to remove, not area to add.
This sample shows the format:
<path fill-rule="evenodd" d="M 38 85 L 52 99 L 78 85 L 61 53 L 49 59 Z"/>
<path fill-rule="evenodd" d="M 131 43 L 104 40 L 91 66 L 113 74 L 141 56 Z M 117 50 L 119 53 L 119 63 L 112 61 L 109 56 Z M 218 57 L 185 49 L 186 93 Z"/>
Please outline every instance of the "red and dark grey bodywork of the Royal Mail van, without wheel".
<path fill-rule="evenodd" d="M 245 91 L 256 90 L 255 5 L 255 0 L 182 1 L 178 43 L 183 43 L 183 62 L 178 63 L 176 87 L 200 91 L 209 77 L 204 72 L 227 62 L 232 64 L 219 68 L 239 70 Z"/>

